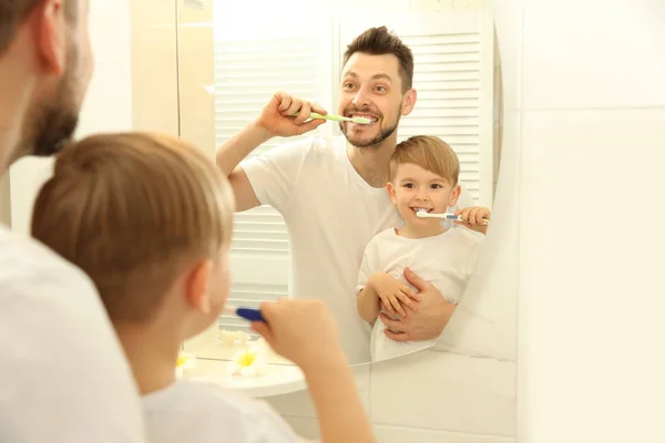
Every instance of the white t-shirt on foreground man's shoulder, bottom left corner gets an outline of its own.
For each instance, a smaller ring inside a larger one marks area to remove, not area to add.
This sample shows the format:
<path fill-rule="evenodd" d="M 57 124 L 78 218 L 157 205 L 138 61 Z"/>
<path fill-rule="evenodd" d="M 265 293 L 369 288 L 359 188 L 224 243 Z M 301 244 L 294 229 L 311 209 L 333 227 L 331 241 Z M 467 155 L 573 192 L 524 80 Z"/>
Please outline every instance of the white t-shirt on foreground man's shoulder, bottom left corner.
<path fill-rule="evenodd" d="M 132 373 L 90 279 L 0 227 L 0 442 L 145 442 Z"/>

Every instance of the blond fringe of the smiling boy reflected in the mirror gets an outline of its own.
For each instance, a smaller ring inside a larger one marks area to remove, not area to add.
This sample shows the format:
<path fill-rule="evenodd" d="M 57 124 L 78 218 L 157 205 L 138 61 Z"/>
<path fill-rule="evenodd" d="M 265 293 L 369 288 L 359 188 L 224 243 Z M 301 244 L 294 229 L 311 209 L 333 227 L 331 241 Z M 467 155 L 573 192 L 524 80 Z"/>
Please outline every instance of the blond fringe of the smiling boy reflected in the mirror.
<path fill-rule="evenodd" d="M 412 163 L 430 171 L 457 186 L 460 175 L 460 161 L 452 147 L 439 137 L 415 135 L 399 143 L 390 157 L 390 181 L 395 179 L 397 167 Z"/>

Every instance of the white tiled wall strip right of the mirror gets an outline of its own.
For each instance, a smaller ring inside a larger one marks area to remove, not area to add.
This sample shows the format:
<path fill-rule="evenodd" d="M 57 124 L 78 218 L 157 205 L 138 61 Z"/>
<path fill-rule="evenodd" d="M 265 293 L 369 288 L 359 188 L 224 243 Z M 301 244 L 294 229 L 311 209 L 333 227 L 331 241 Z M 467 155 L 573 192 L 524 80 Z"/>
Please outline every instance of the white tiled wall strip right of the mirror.
<path fill-rule="evenodd" d="M 497 21 L 521 58 L 519 435 L 663 442 L 665 2 L 497 0 Z"/>

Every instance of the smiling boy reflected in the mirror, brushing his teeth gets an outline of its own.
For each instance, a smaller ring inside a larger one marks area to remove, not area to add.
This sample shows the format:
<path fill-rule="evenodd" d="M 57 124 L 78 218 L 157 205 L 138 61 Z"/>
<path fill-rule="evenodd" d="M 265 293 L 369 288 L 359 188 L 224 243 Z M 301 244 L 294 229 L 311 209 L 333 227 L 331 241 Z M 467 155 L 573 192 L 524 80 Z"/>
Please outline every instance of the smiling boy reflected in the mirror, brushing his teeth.
<path fill-rule="evenodd" d="M 387 315 L 407 315 L 405 306 L 417 309 L 419 297 L 403 278 L 409 268 L 432 282 L 447 300 L 457 303 L 473 274 L 481 238 L 469 229 L 447 228 L 439 218 L 421 218 L 418 212 L 446 213 L 460 196 L 459 161 L 452 148 L 438 137 L 413 136 L 397 145 L 390 159 L 387 190 L 403 219 L 400 228 L 390 228 L 374 237 L 365 249 L 358 276 L 358 312 L 374 323 L 370 352 L 372 361 L 402 356 L 430 347 L 436 340 L 397 342 L 385 334 L 377 321 Z M 483 207 L 458 210 L 466 225 L 484 234 Z"/>

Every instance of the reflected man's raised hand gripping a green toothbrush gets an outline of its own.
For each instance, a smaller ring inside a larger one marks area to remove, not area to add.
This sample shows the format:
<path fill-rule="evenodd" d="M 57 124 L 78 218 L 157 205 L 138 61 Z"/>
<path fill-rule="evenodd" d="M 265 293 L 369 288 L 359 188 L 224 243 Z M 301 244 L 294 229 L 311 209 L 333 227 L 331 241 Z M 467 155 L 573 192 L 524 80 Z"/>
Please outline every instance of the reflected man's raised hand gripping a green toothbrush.
<path fill-rule="evenodd" d="M 286 92 L 276 92 L 263 109 L 256 124 L 267 131 L 270 136 L 303 135 L 326 123 L 325 120 L 318 119 L 306 122 L 313 112 L 323 115 L 328 113 L 317 104 L 294 97 Z M 298 115 L 294 117 L 296 114 Z"/>

